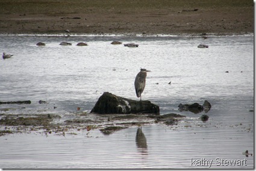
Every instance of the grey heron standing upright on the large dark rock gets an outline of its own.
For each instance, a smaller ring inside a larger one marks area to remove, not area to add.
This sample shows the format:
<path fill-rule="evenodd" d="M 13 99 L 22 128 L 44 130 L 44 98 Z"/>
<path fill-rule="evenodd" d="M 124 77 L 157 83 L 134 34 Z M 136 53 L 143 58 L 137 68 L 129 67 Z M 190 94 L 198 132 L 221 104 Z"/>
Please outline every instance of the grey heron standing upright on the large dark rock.
<path fill-rule="evenodd" d="M 137 74 L 134 86 L 137 97 L 140 97 L 140 101 L 142 101 L 142 92 L 146 85 L 146 73 L 150 72 L 144 68 L 140 68 L 140 72 Z"/>

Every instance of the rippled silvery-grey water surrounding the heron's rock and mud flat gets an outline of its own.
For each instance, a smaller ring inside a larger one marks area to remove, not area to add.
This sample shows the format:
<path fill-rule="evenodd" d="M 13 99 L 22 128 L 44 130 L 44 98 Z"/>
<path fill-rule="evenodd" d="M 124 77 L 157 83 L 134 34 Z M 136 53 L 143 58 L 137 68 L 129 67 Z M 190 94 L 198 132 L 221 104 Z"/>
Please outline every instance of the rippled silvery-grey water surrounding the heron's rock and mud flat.
<path fill-rule="evenodd" d="M 178 125 L 142 127 L 147 148 L 136 146 L 137 127 L 108 136 L 98 130 L 77 135 L 12 134 L 0 137 L 1 168 L 153 168 L 188 169 L 196 159 L 213 160 L 211 168 L 254 168 L 254 37 L 124 37 L 1 35 L 0 101 L 2 113 L 58 113 L 81 107 L 89 112 L 103 92 L 139 100 L 134 79 L 151 70 L 143 100 L 160 106 L 161 115 L 187 116 Z M 45 47 L 36 43 L 43 41 Z M 69 41 L 72 46 L 60 46 Z M 84 41 L 86 47 L 75 46 Z M 137 43 L 130 48 L 111 41 Z M 198 44 L 208 44 L 208 49 Z M 229 71 L 225 73 L 225 71 Z M 170 85 L 169 82 L 172 82 Z M 39 104 L 39 100 L 49 104 Z M 180 112 L 180 103 L 211 103 L 208 113 Z M 54 109 L 54 107 L 57 107 Z M 202 114 L 210 116 L 202 122 Z M 1 116 L 0 116 L 1 117 Z M 1 126 L 1 125 L 0 125 Z M 4 127 L 0 127 L 4 129 Z M 242 166 L 220 160 L 246 160 Z M 194 163 L 195 164 L 195 163 Z M 202 164 L 201 164 L 202 165 Z M 234 165 L 234 164 L 233 164 Z"/>

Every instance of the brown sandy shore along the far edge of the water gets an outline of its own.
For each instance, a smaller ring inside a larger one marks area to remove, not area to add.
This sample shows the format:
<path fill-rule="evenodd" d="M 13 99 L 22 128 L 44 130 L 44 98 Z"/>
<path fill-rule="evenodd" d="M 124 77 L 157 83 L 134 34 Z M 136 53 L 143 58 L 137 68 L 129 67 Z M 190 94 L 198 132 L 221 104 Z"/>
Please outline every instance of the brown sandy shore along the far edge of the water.
<path fill-rule="evenodd" d="M 253 1 L 0 2 L 0 34 L 246 34 Z"/>

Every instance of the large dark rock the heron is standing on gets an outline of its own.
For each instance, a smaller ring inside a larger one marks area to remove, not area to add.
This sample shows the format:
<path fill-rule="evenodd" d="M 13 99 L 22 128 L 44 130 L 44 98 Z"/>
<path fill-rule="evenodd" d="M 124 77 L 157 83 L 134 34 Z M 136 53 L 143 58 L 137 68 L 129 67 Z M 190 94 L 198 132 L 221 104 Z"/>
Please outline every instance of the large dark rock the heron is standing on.
<path fill-rule="evenodd" d="M 104 92 L 91 110 L 91 113 L 99 114 L 130 114 L 130 113 L 153 113 L 160 115 L 159 106 L 151 101 L 136 101 L 128 98 L 119 97 Z"/>

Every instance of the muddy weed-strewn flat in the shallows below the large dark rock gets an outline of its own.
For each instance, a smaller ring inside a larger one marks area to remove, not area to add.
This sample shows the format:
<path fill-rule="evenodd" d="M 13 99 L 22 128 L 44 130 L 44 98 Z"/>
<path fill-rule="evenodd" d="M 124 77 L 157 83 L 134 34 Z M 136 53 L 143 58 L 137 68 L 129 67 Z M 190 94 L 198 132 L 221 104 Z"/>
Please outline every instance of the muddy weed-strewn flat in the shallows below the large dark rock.
<path fill-rule="evenodd" d="M 169 113 L 166 115 L 135 115 L 135 114 L 113 114 L 99 115 L 95 113 L 74 113 L 70 119 L 57 114 L 1 114 L 0 136 L 16 133 L 42 133 L 76 135 L 81 130 L 100 130 L 103 134 L 111 134 L 114 131 L 129 127 L 140 127 L 143 125 L 163 124 L 175 125 L 186 116 Z"/>

